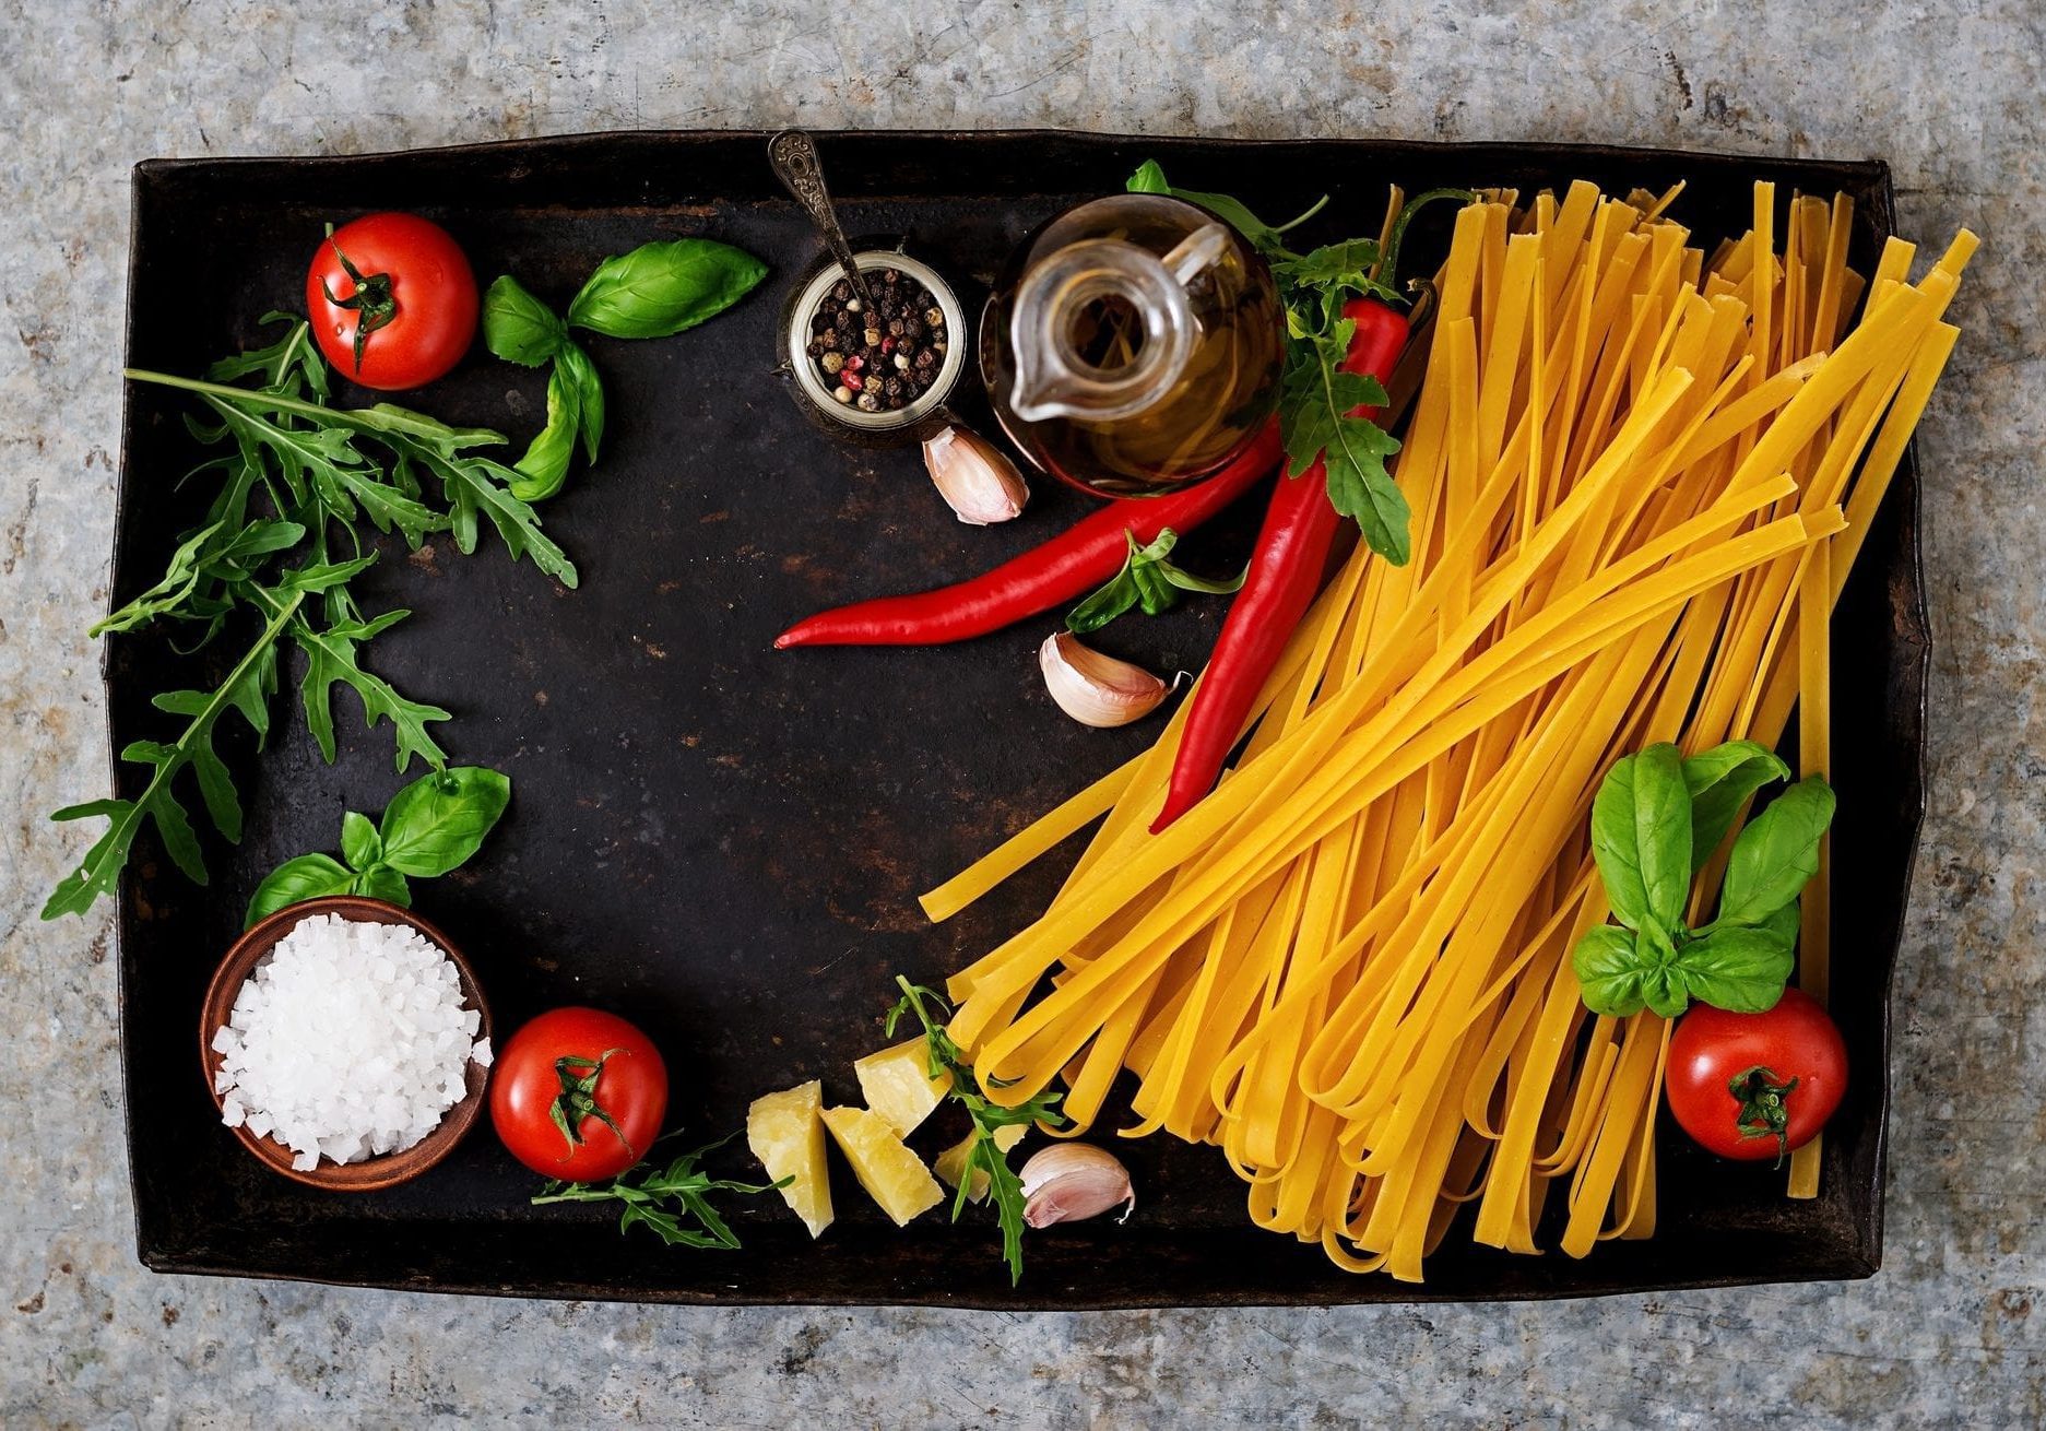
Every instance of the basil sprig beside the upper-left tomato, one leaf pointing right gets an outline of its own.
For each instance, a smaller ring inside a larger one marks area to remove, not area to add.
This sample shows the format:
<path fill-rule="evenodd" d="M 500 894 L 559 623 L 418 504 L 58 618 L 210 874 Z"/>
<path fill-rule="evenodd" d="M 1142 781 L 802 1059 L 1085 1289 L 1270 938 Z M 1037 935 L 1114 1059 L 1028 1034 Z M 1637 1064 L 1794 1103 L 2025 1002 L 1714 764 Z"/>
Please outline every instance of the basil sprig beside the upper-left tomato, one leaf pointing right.
<path fill-rule="evenodd" d="M 581 438 L 583 461 L 597 461 L 604 440 L 604 383 L 589 354 L 571 336 L 585 328 L 606 338 L 669 338 L 716 317 L 767 276 L 751 254 L 714 240 L 642 244 L 597 264 L 559 317 L 503 274 L 483 295 L 483 342 L 505 362 L 536 368 L 546 379 L 546 426 L 518 461 L 511 491 L 540 502 L 561 491 Z"/>

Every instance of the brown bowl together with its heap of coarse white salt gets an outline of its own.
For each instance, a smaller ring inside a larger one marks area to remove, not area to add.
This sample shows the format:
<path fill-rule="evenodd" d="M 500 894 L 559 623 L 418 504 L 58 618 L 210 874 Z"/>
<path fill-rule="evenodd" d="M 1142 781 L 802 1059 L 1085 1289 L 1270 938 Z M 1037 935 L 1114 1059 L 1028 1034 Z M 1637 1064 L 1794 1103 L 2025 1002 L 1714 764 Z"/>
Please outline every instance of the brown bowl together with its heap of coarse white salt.
<path fill-rule="evenodd" d="M 207 1093 L 272 1171 L 379 1191 L 483 1110 L 491 1013 L 446 934 L 381 899 L 276 911 L 227 950 L 198 1015 Z"/>

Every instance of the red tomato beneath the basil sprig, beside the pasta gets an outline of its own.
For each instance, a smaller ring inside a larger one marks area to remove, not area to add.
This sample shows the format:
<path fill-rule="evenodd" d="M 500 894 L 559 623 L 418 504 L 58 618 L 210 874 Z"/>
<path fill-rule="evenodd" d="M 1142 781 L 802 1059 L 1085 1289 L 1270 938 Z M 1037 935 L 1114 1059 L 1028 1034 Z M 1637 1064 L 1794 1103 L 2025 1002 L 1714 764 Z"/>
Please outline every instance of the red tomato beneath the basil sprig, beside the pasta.
<path fill-rule="evenodd" d="M 1696 1005 L 1670 1036 L 1670 1112 L 1719 1157 L 1782 1159 L 1811 1142 L 1848 1091 L 1848 1046 L 1811 995 L 1768 1013 Z"/>

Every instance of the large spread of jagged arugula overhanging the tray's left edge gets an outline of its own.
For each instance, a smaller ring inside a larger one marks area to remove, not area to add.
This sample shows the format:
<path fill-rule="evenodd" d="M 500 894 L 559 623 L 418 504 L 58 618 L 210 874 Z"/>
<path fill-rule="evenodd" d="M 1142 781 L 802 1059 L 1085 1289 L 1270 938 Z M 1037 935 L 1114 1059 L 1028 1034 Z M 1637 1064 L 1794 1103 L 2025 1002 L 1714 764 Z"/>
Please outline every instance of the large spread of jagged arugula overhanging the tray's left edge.
<path fill-rule="evenodd" d="M 503 442 L 483 428 L 450 428 L 426 414 L 391 403 L 327 407 L 327 366 L 305 321 L 266 313 L 266 323 L 291 328 L 268 348 L 215 362 L 205 379 L 129 368 L 127 377 L 190 391 L 207 420 L 186 428 L 215 457 L 186 481 L 215 483 L 198 526 L 182 532 L 170 563 L 149 590 L 92 626 L 92 635 L 174 626 L 186 637 L 176 649 L 211 645 L 241 614 L 256 635 L 227 674 L 205 690 L 172 690 L 153 698 L 158 710 L 182 717 L 174 739 L 133 741 L 121 757 L 149 766 L 133 800 L 68 805 L 55 821 L 100 817 L 106 831 L 65 874 L 43 905 L 43 917 L 86 913 L 110 895 L 133 843 L 153 825 L 172 862 L 194 882 L 207 882 L 205 858 L 190 813 L 178 794 L 192 774 L 213 827 L 241 839 L 241 805 L 215 737 L 227 712 L 250 727 L 258 747 L 270 735 L 270 700 L 280 686 L 282 651 L 305 655 L 299 688 L 305 723 L 325 760 L 336 757 L 333 688 L 362 700 L 368 725 L 387 721 L 395 733 L 395 764 L 413 757 L 442 770 L 446 751 L 430 727 L 448 712 L 407 698 L 389 680 L 362 667 L 360 647 L 407 612 L 366 614 L 350 581 L 376 553 L 364 551 L 364 522 L 399 532 L 419 547 L 432 532 L 450 532 L 456 549 L 477 549 L 479 516 L 487 516 L 514 557 L 575 586 L 575 565 L 540 530 L 532 508 L 511 495 L 518 473 L 473 448 Z M 426 481 L 440 487 L 436 504 Z"/>

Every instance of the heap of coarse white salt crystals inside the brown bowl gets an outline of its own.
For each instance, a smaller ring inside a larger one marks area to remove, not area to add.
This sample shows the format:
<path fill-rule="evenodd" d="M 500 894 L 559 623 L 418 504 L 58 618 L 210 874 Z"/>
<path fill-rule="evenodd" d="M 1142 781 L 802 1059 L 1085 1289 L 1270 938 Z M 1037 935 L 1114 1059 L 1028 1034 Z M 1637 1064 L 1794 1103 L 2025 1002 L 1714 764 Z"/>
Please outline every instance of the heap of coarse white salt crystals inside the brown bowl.
<path fill-rule="evenodd" d="M 321 1157 L 399 1153 L 462 1099 L 471 1058 L 489 1067 L 479 1024 L 454 964 L 417 929 L 301 919 L 213 1036 L 221 1122 L 276 1138 L 301 1173 Z"/>

